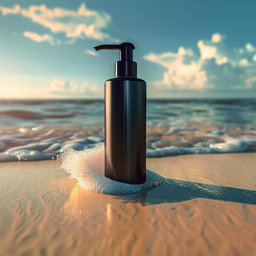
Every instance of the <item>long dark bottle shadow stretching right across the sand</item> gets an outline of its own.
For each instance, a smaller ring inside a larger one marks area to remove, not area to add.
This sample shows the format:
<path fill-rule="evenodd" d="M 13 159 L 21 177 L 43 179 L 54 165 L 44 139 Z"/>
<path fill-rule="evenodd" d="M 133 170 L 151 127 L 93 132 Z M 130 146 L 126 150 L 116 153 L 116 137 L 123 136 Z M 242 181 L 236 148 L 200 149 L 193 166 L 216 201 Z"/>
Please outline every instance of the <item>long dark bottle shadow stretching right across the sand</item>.
<path fill-rule="evenodd" d="M 183 202 L 194 198 L 256 204 L 256 191 L 166 179 L 159 186 L 135 194 L 119 195 L 116 198 L 123 200 L 124 203 L 144 205 Z"/>

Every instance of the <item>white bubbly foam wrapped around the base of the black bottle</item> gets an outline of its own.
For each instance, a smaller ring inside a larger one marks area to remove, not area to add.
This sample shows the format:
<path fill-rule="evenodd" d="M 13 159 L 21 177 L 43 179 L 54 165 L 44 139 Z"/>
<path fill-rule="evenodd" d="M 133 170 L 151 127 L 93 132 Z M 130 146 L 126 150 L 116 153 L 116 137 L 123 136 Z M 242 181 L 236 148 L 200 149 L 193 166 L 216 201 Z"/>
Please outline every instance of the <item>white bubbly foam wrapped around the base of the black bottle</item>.
<path fill-rule="evenodd" d="M 61 153 L 62 164 L 58 169 L 62 168 L 69 173 L 70 179 L 76 178 L 83 189 L 103 194 L 136 193 L 157 186 L 165 180 L 164 177 L 149 169 L 146 169 L 146 182 L 143 184 L 132 185 L 110 180 L 104 176 L 104 155 L 104 143 L 80 151 L 69 147 Z"/>

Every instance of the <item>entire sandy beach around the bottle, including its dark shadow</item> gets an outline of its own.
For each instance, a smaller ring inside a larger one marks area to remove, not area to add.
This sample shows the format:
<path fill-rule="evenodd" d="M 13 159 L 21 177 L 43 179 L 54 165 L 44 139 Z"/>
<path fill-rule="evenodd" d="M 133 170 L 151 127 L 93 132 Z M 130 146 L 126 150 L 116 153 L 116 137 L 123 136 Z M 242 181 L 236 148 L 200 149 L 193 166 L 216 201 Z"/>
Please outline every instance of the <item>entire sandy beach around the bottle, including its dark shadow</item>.
<path fill-rule="evenodd" d="M 1 256 L 256 255 L 256 153 L 147 159 L 166 181 L 130 195 L 60 164 L 0 164 Z"/>

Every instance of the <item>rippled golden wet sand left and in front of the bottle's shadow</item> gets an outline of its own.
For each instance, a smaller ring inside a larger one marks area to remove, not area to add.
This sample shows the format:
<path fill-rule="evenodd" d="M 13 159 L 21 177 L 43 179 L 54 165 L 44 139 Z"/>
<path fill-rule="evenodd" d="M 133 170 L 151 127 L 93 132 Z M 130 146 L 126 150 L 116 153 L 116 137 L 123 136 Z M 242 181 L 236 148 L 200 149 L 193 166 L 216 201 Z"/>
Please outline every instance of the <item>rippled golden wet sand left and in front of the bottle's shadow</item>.
<path fill-rule="evenodd" d="M 154 204 L 154 189 L 135 202 L 85 191 L 58 164 L 1 169 L 0 255 L 255 255 L 256 205 Z"/>

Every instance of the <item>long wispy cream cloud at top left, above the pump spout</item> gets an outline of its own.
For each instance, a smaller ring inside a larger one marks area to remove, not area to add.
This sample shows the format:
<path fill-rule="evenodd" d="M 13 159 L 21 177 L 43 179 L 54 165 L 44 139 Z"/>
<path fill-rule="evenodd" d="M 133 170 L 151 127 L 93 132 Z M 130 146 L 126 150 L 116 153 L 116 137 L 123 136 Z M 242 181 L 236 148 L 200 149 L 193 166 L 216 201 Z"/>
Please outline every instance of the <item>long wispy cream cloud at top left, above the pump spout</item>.
<path fill-rule="evenodd" d="M 106 28 L 111 20 L 108 13 L 92 11 L 82 3 L 77 11 L 71 11 L 55 7 L 48 9 L 44 4 L 31 5 L 28 9 L 22 9 L 16 4 L 13 9 L 0 7 L 3 15 L 20 14 L 42 25 L 52 33 L 64 33 L 67 38 L 91 38 L 96 40 L 109 40 L 119 42 L 101 29 Z M 69 41 L 73 42 L 73 41 Z"/>

